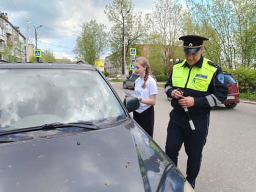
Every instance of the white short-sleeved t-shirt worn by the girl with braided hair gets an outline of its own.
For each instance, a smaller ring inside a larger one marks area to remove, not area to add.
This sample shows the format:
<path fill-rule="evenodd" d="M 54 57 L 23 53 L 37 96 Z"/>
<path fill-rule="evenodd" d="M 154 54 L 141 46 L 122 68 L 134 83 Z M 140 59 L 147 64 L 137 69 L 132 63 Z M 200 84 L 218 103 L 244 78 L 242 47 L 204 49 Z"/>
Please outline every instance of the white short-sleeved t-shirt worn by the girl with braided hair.
<path fill-rule="evenodd" d="M 155 82 L 155 79 L 153 79 L 151 76 L 148 77 L 145 88 L 142 88 L 143 84 L 144 84 L 143 78 L 138 77 L 135 80 L 134 94 L 138 98 L 150 99 L 150 96 L 152 94 L 158 94 L 157 82 Z M 144 112 L 144 110 L 148 109 L 149 107 L 151 107 L 151 105 L 146 105 L 140 102 L 140 107 L 136 110 L 136 112 L 142 113 Z"/>

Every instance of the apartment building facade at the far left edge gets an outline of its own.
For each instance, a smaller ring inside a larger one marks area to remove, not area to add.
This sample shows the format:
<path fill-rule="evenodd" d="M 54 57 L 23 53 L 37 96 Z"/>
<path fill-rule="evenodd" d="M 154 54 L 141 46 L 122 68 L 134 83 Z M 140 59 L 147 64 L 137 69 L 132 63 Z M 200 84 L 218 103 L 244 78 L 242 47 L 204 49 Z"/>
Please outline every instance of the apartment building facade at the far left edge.
<path fill-rule="evenodd" d="M 0 59 L 26 62 L 26 37 L 13 26 L 7 13 L 0 13 Z"/>

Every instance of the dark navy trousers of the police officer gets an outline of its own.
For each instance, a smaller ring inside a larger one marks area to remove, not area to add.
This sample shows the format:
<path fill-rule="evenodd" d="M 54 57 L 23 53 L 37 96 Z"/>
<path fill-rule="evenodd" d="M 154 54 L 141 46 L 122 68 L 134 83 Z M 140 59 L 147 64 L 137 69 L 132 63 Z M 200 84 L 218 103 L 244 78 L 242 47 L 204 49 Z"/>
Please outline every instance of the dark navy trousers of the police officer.
<path fill-rule="evenodd" d="M 184 143 L 188 155 L 187 180 L 194 188 L 208 134 L 210 113 L 192 117 L 196 130 L 191 130 L 187 114 L 172 110 L 169 116 L 165 152 L 177 166 L 179 151 Z"/>

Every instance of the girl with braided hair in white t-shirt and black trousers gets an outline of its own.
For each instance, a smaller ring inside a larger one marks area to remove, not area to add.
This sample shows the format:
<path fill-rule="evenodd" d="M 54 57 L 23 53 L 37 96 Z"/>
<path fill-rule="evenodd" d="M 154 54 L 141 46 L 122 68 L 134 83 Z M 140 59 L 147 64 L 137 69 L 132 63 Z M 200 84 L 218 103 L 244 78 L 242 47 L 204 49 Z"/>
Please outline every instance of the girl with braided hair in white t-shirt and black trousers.
<path fill-rule="evenodd" d="M 135 73 L 140 76 L 135 80 L 133 97 L 140 101 L 140 107 L 133 112 L 133 118 L 138 124 L 153 137 L 154 131 L 154 105 L 157 98 L 157 82 L 149 74 L 151 67 L 145 57 L 135 60 Z"/>

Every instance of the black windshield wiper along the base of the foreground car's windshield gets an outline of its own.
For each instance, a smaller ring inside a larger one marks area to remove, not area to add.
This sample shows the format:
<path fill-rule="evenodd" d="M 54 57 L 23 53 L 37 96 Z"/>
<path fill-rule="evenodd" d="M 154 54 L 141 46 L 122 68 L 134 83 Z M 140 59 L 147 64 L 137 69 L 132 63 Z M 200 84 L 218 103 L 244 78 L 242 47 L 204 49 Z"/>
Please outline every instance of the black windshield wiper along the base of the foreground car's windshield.
<path fill-rule="evenodd" d="M 35 130 L 57 129 L 57 128 L 63 128 L 63 127 L 80 127 L 84 129 L 90 129 L 90 130 L 99 129 L 99 127 L 96 126 L 96 124 L 93 124 L 92 121 L 82 121 L 82 122 L 76 122 L 76 123 L 49 123 L 49 124 L 43 124 L 42 126 L 6 130 L 4 132 L 0 132 L 0 135 L 9 135 L 13 133 L 30 132 Z"/>

